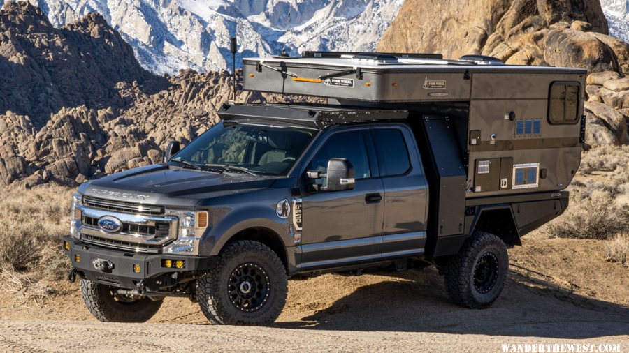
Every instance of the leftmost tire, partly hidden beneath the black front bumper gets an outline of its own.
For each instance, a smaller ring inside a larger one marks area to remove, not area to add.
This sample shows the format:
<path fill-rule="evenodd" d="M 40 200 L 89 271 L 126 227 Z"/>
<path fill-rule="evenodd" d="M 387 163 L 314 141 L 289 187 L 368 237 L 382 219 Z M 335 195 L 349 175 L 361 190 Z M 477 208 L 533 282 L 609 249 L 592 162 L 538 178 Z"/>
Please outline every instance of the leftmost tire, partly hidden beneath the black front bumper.
<path fill-rule="evenodd" d="M 146 322 L 157 313 L 162 301 L 137 299 L 118 301 L 112 287 L 81 280 L 81 296 L 85 306 L 101 322 Z"/>

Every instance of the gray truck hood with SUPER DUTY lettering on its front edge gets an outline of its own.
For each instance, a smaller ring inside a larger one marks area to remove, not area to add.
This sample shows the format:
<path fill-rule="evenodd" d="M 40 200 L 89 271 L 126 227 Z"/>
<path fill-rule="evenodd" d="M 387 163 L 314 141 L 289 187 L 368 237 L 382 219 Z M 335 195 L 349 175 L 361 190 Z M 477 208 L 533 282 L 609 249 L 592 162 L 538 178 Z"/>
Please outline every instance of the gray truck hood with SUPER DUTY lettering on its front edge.
<path fill-rule="evenodd" d="M 196 206 L 209 197 L 268 188 L 274 178 L 150 165 L 108 175 L 79 187 L 83 195 L 162 206 Z"/>

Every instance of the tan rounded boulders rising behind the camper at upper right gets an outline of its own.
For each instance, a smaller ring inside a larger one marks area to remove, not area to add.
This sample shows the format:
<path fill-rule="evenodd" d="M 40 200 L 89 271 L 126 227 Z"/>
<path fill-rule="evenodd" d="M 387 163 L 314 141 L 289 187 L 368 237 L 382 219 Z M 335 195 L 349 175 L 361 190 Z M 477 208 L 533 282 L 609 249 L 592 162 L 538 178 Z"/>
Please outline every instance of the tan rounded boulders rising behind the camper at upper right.
<path fill-rule="evenodd" d="M 607 34 L 599 0 L 406 0 L 377 49 L 586 68 L 586 143 L 624 144 L 629 44 Z"/>

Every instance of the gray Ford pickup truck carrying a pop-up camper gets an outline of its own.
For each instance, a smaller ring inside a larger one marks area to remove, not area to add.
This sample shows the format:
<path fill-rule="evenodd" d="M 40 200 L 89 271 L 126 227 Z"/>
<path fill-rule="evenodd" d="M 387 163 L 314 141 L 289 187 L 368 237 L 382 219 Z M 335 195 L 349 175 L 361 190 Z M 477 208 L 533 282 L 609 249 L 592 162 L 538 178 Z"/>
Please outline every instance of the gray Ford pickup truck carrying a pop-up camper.
<path fill-rule="evenodd" d="M 329 52 L 244 64 L 245 89 L 328 104 L 230 103 L 164 163 L 83 183 L 63 248 L 99 320 L 144 322 L 182 296 L 216 324 L 270 324 L 291 277 L 427 265 L 454 303 L 484 308 L 507 248 L 567 207 L 584 70 Z"/>

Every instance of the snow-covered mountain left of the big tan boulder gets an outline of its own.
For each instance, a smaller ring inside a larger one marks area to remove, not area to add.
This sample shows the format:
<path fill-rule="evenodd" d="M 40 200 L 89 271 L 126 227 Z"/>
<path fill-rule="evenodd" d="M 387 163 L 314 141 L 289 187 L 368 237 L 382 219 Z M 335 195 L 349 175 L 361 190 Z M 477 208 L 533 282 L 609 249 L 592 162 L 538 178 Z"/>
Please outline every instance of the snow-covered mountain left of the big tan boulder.
<path fill-rule="evenodd" d="M 1 0 L 0 0 L 1 1 Z M 4 0 L 11 1 L 11 0 Z M 154 73 L 231 68 L 242 57 L 374 50 L 403 0 L 29 0 L 60 27 L 96 12 Z"/>

